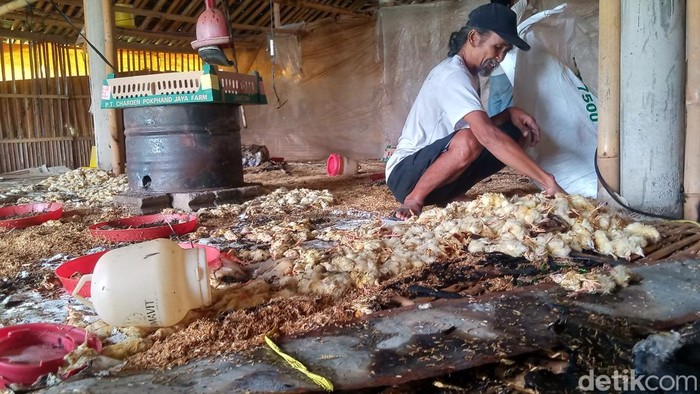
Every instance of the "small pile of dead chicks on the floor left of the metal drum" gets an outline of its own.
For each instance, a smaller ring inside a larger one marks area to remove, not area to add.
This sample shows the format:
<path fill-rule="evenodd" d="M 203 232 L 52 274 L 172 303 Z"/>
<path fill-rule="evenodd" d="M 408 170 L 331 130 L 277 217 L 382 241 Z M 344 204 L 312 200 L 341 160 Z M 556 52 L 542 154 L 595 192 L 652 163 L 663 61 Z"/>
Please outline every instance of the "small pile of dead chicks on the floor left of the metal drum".
<path fill-rule="evenodd" d="M 96 168 L 78 168 L 59 176 L 46 178 L 30 191 L 46 191 L 36 197 L 23 197 L 20 203 L 32 201 L 71 201 L 76 205 L 102 205 L 128 187 L 126 175 L 114 176 Z"/>

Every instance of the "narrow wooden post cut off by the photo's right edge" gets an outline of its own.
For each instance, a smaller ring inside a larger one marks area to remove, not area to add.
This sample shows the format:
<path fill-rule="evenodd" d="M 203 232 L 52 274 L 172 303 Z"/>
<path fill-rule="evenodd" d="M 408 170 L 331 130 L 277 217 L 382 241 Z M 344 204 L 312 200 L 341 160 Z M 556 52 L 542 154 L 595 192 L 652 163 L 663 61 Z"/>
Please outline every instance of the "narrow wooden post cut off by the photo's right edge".
<path fill-rule="evenodd" d="M 700 221 L 700 1 L 686 3 L 685 203 L 683 217 Z"/>

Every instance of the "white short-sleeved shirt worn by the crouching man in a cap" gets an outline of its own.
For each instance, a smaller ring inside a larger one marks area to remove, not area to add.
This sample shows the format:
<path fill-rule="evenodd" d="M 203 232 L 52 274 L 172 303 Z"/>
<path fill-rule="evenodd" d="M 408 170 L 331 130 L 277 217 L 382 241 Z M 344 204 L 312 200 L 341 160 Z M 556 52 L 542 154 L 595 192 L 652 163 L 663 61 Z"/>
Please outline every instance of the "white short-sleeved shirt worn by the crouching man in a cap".
<path fill-rule="evenodd" d="M 430 71 L 408 113 L 396 150 L 386 164 L 386 179 L 402 159 L 453 132 L 469 127 L 464 117 L 484 111 L 479 78 L 461 56 L 443 60 Z"/>

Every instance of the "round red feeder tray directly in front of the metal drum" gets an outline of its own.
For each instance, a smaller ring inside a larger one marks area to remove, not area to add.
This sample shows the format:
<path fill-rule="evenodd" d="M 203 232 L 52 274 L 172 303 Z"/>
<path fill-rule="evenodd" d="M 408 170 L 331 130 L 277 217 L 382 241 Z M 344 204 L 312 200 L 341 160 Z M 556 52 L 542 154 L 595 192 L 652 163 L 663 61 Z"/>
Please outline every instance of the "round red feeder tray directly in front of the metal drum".
<path fill-rule="evenodd" d="M 112 242 L 134 242 L 187 234 L 196 227 L 195 215 L 157 213 L 97 223 L 88 228 L 94 237 Z"/>

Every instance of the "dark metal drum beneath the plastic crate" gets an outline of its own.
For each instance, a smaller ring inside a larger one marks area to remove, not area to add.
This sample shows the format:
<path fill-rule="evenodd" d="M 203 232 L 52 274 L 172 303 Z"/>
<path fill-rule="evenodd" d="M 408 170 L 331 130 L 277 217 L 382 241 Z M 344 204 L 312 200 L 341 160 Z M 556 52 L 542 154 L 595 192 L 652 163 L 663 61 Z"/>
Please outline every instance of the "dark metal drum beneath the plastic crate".
<path fill-rule="evenodd" d="M 243 185 L 239 120 L 236 104 L 124 108 L 129 189 L 176 193 Z"/>

